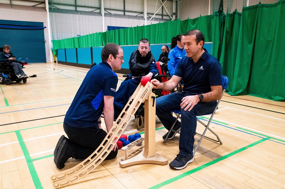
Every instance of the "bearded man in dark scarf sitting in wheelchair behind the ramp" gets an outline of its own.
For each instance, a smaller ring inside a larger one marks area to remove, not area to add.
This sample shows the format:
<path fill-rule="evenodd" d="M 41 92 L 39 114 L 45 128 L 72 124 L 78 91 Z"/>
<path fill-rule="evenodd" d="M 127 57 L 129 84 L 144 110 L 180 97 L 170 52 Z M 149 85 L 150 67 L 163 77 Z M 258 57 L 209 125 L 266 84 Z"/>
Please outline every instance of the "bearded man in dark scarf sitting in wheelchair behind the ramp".
<path fill-rule="evenodd" d="M 151 79 L 158 75 L 158 69 L 154 56 L 151 54 L 150 42 L 148 39 L 143 38 L 139 41 L 139 48 L 131 54 L 129 68 L 131 73 L 128 78 L 121 83 L 119 89 L 115 93 L 115 119 L 119 116 L 130 96 L 135 92 L 137 86 L 139 86 L 141 78 L 146 76 Z"/>

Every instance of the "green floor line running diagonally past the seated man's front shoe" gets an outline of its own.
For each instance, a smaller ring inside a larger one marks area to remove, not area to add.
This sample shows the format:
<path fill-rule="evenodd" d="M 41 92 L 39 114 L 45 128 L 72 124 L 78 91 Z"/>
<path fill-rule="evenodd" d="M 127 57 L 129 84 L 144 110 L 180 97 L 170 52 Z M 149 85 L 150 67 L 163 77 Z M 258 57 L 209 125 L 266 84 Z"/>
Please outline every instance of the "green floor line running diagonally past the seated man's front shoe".
<path fill-rule="evenodd" d="M 231 152 L 231 153 L 229 153 L 229 154 L 227 154 L 227 155 L 224 155 L 224 156 L 222 156 L 222 157 L 220 157 L 220 158 L 218 158 L 218 159 L 215 159 L 215 160 L 213 160 L 213 161 L 210 161 L 209 163 L 206 163 L 206 164 L 204 164 L 204 165 L 202 165 L 202 166 L 200 166 L 200 167 L 196 167 L 196 168 L 194 168 L 194 169 L 192 169 L 192 170 L 190 170 L 190 171 L 187 171 L 187 172 L 185 172 L 185 173 L 183 173 L 183 174 L 181 174 L 181 175 L 178 175 L 178 176 L 176 176 L 176 177 L 174 177 L 174 178 L 172 178 L 172 179 L 166 180 L 166 181 L 164 181 L 164 182 L 162 182 L 162 183 L 160 183 L 160 184 L 157 184 L 157 185 L 155 185 L 155 186 L 153 186 L 153 187 L 150 187 L 149 189 L 160 188 L 160 187 L 165 186 L 165 185 L 167 185 L 167 184 L 170 184 L 170 183 L 172 183 L 172 182 L 174 182 L 174 181 L 177 181 L 177 180 L 179 180 L 179 179 L 182 179 L 182 178 L 185 177 L 185 176 L 191 175 L 192 173 L 195 173 L 195 172 L 200 171 L 200 170 L 202 170 L 202 169 L 204 169 L 204 168 L 206 168 L 206 167 L 209 167 L 209 166 L 211 166 L 211 165 L 213 165 L 213 164 L 215 164 L 215 163 L 218 163 L 218 162 L 220 162 L 221 160 L 224 160 L 224 159 L 227 159 L 227 158 L 229 158 L 229 157 L 231 157 L 231 156 L 233 156 L 233 155 L 236 155 L 236 154 L 238 154 L 238 153 L 240 153 L 240 152 L 242 152 L 242 151 L 244 151 L 244 150 L 246 150 L 246 149 L 248 149 L 248 148 L 250 148 L 250 147 L 253 147 L 253 146 L 255 146 L 255 145 L 259 144 L 259 143 L 262 143 L 262 142 L 264 142 L 264 141 L 266 141 L 266 140 L 268 140 L 268 139 L 270 139 L 270 138 L 264 138 L 264 139 L 261 139 L 261 140 L 255 142 L 255 143 L 249 144 L 249 145 L 247 145 L 247 146 L 245 146 L 245 147 L 243 147 L 243 148 L 240 148 L 240 149 L 238 149 L 238 150 L 236 150 L 236 151 L 233 151 L 233 152 Z"/>

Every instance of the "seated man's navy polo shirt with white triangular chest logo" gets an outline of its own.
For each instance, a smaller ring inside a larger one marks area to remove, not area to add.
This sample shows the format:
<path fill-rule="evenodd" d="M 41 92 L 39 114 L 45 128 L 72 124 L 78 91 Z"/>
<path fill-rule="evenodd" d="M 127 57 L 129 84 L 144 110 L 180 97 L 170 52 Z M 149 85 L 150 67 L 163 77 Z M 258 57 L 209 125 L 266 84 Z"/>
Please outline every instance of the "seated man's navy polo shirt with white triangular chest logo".
<path fill-rule="evenodd" d="M 184 81 L 183 93 L 203 94 L 211 91 L 211 86 L 222 85 L 222 66 L 217 58 L 205 52 L 195 63 L 187 56 L 178 63 L 174 75 Z"/>

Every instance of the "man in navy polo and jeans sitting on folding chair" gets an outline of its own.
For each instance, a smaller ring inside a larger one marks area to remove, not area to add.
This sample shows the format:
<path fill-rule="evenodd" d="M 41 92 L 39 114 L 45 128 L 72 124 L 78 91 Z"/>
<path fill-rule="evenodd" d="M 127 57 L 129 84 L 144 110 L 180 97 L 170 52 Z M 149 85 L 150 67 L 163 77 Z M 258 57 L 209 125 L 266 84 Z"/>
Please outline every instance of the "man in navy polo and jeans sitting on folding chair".
<path fill-rule="evenodd" d="M 190 30 L 185 34 L 184 43 L 187 57 L 178 63 L 173 77 L 167 82 L 153 79 L 154 88 L 172 90 L 181 79 L 184 81 L 182 93 L 173 93 L 156 99 L 156 115 L 169 131 L 175 122 L 173 110 L 181 111 L 181 124 L 174 125 L 180 131 L 179 154 L 169 164 L 173 169 L 183 169 L 193 162 L 193 144 L 196 133 L 196 116 L 214 111 L 217 100 L 222 96 L 222 68 L 217 58 L 203 48 L 204 34 L 199 30 Z M 176 133 L 171 132 L 168 139 Z M 166 138 L 167 133 L 162 137 Z"/>

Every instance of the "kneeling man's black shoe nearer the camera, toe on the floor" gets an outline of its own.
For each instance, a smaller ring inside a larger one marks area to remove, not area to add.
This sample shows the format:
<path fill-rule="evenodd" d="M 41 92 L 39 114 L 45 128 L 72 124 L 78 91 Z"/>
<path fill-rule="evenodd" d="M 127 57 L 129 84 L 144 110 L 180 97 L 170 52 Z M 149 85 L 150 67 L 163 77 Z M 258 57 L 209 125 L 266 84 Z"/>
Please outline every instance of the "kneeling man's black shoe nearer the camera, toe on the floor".
<path fill-rule="evenodd" d="M 71 157 L 70 148 L 68 148 L 68 146 L 68 141 L 64 139 L 60 144 L 57 154 L 54 156 L 53 161 L 58 169 L 62 169 L 64 163 Z"/>

